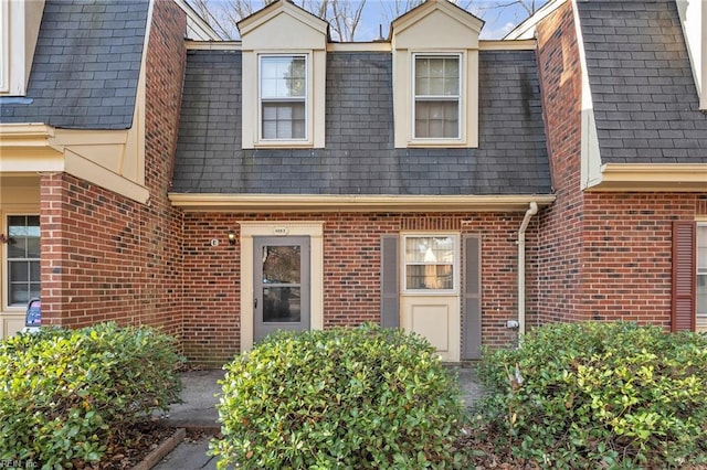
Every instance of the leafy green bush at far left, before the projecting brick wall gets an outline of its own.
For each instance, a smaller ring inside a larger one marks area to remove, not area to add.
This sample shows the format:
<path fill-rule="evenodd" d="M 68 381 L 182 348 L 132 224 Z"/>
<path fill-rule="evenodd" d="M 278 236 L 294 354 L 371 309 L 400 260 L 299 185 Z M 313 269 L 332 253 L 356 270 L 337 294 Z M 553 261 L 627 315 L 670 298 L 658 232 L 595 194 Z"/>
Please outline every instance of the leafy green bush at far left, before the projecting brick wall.
<path fill-rule="evenodd" d="M 175 341 L 113 323 L 0 342 L 0 462 L 101 460 L 119 434 L 179 396 Z"/>

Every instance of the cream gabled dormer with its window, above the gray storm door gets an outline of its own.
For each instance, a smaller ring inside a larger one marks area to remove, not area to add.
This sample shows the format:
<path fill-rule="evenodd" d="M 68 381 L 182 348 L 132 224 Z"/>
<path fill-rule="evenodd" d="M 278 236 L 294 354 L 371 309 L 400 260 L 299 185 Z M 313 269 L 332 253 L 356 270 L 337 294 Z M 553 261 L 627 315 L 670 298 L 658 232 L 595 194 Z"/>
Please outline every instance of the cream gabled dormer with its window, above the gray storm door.
<path fill-rule="evenodd" d="M 325 148 L 327 22 L 277 0 L 238 25 L 243 148 Z"/>

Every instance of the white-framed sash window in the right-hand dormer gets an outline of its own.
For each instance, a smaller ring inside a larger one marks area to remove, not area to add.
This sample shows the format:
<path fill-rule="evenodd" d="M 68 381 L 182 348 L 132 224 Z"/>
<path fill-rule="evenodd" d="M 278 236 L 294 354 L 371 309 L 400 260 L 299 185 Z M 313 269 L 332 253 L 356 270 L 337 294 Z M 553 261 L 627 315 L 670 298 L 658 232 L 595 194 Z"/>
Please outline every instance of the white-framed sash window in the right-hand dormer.
<path fill-rule="evenodd" d="M 462 138 L 462 55 L 413 54 L 414 140 Z"/>

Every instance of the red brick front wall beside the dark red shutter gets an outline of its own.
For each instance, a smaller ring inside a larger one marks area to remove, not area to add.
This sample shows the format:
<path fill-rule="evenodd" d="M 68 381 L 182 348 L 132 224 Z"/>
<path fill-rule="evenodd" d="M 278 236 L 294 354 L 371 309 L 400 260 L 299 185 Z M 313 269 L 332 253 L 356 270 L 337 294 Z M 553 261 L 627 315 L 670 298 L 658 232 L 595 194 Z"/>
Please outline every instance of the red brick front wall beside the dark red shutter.
<path fill-rule="evenodd" d="M 583 310 L 595 320 L 671 324 L 673 221 L 695 220 L 700 195 L 585 195 Z"/>

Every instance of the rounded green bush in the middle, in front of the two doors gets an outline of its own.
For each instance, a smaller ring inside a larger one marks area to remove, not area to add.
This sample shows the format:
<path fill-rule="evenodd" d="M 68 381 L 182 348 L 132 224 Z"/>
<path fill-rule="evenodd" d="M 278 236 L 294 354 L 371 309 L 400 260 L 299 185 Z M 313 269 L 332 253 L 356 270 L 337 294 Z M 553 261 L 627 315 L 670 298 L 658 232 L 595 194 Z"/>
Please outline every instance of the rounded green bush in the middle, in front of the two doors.
<path fill-rule="evenodd" d="M 421 337 L 279 333 L 225 366 L 219 468 L 451 468 L 458 385 Z"/>

